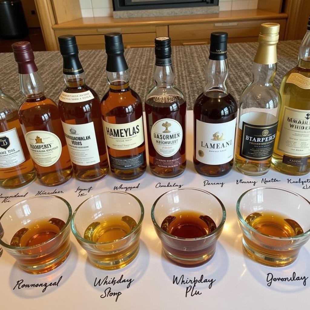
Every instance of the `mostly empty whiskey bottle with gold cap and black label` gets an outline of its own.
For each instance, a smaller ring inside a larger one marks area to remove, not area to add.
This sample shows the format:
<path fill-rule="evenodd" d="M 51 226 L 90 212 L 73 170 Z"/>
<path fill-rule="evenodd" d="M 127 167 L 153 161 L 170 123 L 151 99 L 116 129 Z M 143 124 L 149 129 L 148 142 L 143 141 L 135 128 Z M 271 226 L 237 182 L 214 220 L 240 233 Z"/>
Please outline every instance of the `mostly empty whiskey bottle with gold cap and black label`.
<path fill-rule="evenodd" d="M 252 81 L 240 97 L 235 165 L 246 175 L 263 175 L 271 164 L 281 104 L 273 84 L 279 29 L 276 23 L 261 24 Z"/>

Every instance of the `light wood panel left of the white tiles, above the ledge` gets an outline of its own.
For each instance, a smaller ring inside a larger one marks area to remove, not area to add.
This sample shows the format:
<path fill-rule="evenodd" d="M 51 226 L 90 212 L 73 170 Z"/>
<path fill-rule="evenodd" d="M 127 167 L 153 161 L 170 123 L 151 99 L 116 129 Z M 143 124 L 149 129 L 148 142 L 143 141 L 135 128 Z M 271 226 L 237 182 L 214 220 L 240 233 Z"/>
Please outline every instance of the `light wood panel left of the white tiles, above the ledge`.
<path fill-rule="evenodd" d="M 79 0 L 51 0 L 57 24 L 82 17 Z"/>

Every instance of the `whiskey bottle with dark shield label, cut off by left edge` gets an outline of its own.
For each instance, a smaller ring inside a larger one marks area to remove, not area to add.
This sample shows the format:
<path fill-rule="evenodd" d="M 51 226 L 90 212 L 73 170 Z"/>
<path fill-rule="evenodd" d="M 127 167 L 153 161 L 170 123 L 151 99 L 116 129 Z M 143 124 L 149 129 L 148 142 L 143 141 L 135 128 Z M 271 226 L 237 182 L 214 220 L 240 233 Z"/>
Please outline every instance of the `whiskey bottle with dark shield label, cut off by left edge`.
<path fill-rule="evenodd" d="M 4 94 L 0 85 L 0 186 L 6 189 L 20 188 L 35 177 L 36 172 L 18 120 L 17 102 Z"/>

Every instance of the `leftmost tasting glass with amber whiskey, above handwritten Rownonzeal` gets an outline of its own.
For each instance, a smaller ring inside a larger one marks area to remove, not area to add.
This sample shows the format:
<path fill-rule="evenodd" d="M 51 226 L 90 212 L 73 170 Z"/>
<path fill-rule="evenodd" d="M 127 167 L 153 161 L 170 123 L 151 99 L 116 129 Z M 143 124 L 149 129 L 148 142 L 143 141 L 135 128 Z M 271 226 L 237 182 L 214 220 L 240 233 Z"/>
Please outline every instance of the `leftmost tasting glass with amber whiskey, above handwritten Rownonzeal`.
<path fill-rule="evenodd" d="M 32 274 L 51 271 L 70 253 L 71 215 L 69 203 L 61 197 L 27 198 L 1 215 L 0 245 L 24 271 Z"/>

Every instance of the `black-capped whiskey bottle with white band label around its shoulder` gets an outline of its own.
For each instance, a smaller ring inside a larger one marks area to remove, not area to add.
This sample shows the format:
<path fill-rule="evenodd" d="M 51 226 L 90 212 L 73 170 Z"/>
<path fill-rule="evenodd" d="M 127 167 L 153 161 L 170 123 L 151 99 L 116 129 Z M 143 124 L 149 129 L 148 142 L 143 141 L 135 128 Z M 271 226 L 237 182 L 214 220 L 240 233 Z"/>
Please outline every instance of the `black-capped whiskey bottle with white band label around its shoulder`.
<path fill-rule="evenodd" d="M 108 173 L 100 99 L 85 84 L 75 36 L 60 36 L 58 42 L 66 82 L 58 108 L 73 171 L 81 181 L 95 181 Z"/>

